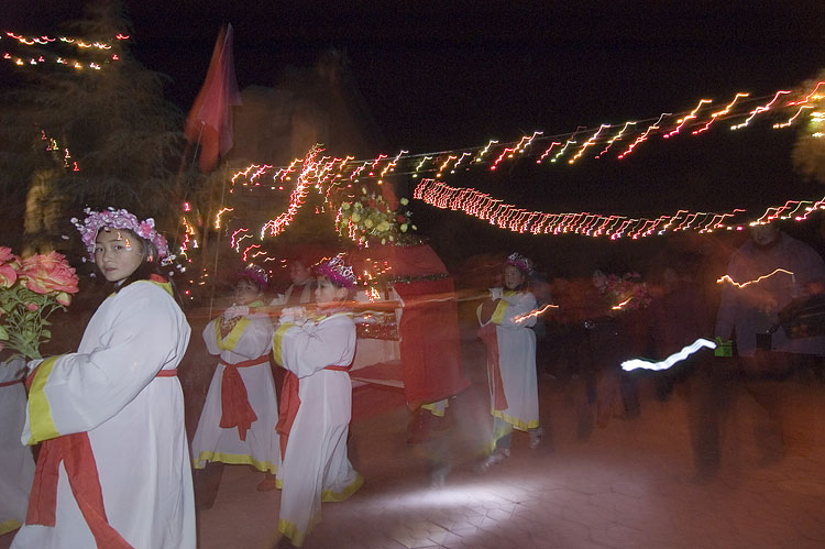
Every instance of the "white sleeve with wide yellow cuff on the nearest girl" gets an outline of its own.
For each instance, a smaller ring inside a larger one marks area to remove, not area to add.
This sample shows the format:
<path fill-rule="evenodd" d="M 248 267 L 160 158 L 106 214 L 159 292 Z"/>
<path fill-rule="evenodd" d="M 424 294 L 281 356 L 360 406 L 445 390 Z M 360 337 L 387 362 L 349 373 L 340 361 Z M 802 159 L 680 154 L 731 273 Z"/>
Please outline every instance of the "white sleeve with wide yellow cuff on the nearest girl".
<path fill-rule="evenodd" d="M 91 430 L 117 415 L 166 365 L 179 362 L 189 325 L 153 283 L 133 283 L 92 317 L 80 352 L 52 356 L 31 374 L 22 440 L 33 444 Z"/>

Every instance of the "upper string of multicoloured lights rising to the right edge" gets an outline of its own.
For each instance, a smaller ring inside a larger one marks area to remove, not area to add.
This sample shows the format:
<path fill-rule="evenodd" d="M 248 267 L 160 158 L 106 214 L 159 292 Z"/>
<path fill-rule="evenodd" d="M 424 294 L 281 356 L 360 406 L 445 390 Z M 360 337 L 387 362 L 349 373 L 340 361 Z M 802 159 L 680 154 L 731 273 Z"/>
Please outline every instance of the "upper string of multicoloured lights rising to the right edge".
<path fill-rule="evenodd" d="M 661 136 L 673 141 L 680 134 L 696 136 L 708 132 L 713 125 L 723 120 L 730 120 L 728 130 L 741 130 L 754 121 L 756 117 L 773 117 L 771 128 L 782 130 L 793 124 L 809 120 L 813 127 L 812 135 L 822 136 L 820 128 L 825 123 L 818 103 L 825 97 L 821 89 L 825 81 L 816 84 L 813 90 L 779 90 L 770 96 L 751 98 L 749 92 L 737 92 L 732 100 L 724 103 L 722 109 L 713 109 L 711 99 L 701 99 L 695 107 L 686 112 L 662 112 L 657 118 L 628 120 L 619 124 L 603 123 L 595 130 L 579 127 L 574 132 L 548 135 L 536 131 L 531 135 L 522 135 L 518 141 L 499 142 L 491 140 L 484 146 L 454 149 L 449 151 L 409 154 L 402 150 L 389 156 L 380 154 L 375 158 L 356 160 L 353 156 L 336 158 L 336 177 L 348 177 L 358 183 L 364 178 L 383 184 L 388 175 L 444 178 L 457 172 L 469 172 L 477 167 L 496 171 L 502 163 L 517 157 L 532 157 L 537 164 L 558 164 L 565 156 L 566 162 L 560 164 L 574 165 L 584 158 L 602 160 L 614 157 L 626 160 L 646 141 Z M 737 122 L 738 121 L 738 122 Z M 683 132 L 684 130 L 684 132 Z M 690 131 L 689 131 L 690 130 Z M 585 139 L 586 136 L 586 139 Z M 590 151 L 593 151 L 592 153 Z M 610 156 L 613 155 L 613 156 Z M 263 176 L 272 173 L 270 188 L 275 190 L 289 180 L 289 174 L 300 163 L 296 160 L 287 167 L 275 167 L 266 164 L 251 165 L 239 172 L 232 178 L 232 189 L 243 175 L 241 187 L 250 190 L 262 187 Z M 253 172 L 254 171 L 254 172 Z M 250 173 L 252 175 L 250 176 Z"/>

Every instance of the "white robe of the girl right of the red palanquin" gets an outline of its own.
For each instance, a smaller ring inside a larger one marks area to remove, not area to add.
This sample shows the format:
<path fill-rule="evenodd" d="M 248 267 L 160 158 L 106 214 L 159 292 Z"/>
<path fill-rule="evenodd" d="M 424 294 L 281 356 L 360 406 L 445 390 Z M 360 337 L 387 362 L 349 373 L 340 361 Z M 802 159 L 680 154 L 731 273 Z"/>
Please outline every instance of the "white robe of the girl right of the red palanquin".
<path fill-rule="evenodd" d="M 498 363 L 502 372 L 502 385 L 507 398 L 507 409 L 496 410 L 491 406 L 494 417 L 497 417 L 514 428 L 526 431 L 539 426 L 539 388 L 536 376 L 536 332 L 530 327 L 536 323 L 536 317 L 515 322 L 521 315 L 535 311 L 536 296 L 529 292 L 504 292 L 502 301 L 488 322 L 481 322 L 481 307 L 479 321 L 482 326 L 496 325 L 498 341 Z M 491 402 L 493 402 L 493 382 L 491 381 Z"/>

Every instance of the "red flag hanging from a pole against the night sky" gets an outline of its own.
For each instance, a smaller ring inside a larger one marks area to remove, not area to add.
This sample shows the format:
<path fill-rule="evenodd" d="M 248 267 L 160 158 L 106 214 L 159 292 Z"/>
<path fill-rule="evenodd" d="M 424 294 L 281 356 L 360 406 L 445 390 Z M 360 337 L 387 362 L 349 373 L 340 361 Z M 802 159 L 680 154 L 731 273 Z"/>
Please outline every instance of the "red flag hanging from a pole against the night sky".
<path fill-rule="evenodd" d="M 241 103 L 235 66 L 232 62 L 232 25 L 221 29 L 209 62 L 204 87 L 186 117 L 184 133 L 200 144 L 200 171 L 215 167 L 219 156 L 232 149 L 232 107 Z"/>

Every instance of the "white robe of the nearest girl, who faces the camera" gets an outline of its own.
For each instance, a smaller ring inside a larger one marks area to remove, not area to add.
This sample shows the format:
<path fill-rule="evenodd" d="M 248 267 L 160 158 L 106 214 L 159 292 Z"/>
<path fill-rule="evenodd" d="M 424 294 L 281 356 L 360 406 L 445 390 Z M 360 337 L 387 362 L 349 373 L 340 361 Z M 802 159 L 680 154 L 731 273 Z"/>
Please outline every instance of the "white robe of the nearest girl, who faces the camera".
<path fill-rule="evenodd" d="M 135 282 L 91 317 L 78 352 L 37 366 L 22 440 L 87 432 L 109 524 L 135 548 L 195 548 L 195 498 L 174 370 L 190 328 L 168 285 Z M 45 411 L 44 411 L 45 410 Z M 92 548 L 59 465 L 55 526 L 24 525 L 13 548 Z"/>

